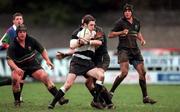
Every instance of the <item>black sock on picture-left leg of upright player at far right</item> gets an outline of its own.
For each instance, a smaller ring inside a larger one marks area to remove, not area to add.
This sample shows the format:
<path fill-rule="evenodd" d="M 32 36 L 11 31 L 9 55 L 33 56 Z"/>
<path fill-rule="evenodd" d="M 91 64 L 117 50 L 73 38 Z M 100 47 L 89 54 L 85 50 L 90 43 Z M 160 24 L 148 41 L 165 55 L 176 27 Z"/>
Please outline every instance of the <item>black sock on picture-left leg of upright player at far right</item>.
<path fill-rule="evenodd" d="M 116 90 L 116 88 L 119 86 L 119 84 L 123 81 L 123 79 L 125 78 L 126 76 L 117 76 L 114 83 L 113 83 L 113 86 L 110 90 L 110 92 L 113 92 Z"/>

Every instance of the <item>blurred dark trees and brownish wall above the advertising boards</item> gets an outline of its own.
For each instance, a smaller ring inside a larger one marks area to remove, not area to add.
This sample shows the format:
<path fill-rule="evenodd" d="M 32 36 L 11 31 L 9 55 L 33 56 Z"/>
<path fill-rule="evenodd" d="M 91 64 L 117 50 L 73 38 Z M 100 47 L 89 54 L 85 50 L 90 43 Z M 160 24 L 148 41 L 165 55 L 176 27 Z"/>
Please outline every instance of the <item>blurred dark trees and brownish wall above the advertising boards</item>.
<path fill-rule="evenodd" d="M 135 16 L 141 20 L 145 47 L 180 48 L 179 0 L 1 0 L 0 35 L 12 25 L 12 15 L 21 12 L 29 33 L 47 48 L 68 47 L 83 15 L 92 14 L 108 34 L 126 3 L 134 5 Z M 108 41 L 109 49 L 116 48 L 116 41 Z"/>

